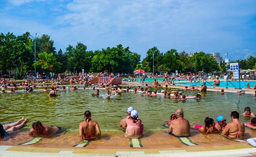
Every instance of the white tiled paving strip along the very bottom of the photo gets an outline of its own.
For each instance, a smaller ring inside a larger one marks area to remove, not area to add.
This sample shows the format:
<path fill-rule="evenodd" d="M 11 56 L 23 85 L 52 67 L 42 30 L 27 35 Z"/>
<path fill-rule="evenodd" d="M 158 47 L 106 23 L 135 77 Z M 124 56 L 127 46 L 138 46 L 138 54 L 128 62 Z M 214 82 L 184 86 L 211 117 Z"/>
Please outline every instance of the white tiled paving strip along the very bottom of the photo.
<path fill-rule="evenodd" d="M 4 147 L 1 147 L 5 149 Z M 88 152 L 88 154 L 74 154 L 73 151 L 59 151 L 58 153 L 45 152 L 25 152 L 25 151 L 5 151 L 1 149 L 1 157 L 244 157 L 252 156 L 256 152 L 256 148 L 233 149 L 222 151 L 191 151 L 172 150 L 159 151 L 160 154 L 145 154 L 141 151 L 116 151 L 116 154 L 97 154 L 96 149 Z M 46 148 L 47 149 L 47 148 Z M 252 154 L 250 154 L 252 153 Z"/>

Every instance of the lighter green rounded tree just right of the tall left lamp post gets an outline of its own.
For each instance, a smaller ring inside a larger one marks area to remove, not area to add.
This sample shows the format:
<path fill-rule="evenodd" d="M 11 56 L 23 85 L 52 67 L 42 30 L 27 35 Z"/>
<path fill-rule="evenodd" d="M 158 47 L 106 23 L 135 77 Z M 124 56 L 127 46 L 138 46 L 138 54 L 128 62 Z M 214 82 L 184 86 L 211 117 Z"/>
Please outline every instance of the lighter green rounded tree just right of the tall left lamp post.
<path fill-rule="evenodd" d="M 44 72 L 54 72 L 54 71 L 60 71 L 61 70 L 61 63 L 56 62 L 56 57 L 53 55 L 53 53 L 47 53 L 43 52 L 38 54 L 38 61 L 36 61 L 33 66 L 36 69 L 39 69 L 39 71 Z"/>

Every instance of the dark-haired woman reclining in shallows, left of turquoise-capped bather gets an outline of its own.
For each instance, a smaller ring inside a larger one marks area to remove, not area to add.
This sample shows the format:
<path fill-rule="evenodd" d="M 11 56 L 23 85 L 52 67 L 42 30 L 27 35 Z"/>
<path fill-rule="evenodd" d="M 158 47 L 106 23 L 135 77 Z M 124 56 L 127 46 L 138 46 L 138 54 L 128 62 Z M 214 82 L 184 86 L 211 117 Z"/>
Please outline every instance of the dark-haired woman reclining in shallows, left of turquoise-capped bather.
<path fill-rule="evenodd" d="M 203 125 L 196 125 L 194 126 L 195 129 L 198 129 L 202 134 L 216 134 L 219 131 L 215 128 L 215 123 L 214 120 L 211 117 L 206 117 L 204 120 L 204 124 Z"/>

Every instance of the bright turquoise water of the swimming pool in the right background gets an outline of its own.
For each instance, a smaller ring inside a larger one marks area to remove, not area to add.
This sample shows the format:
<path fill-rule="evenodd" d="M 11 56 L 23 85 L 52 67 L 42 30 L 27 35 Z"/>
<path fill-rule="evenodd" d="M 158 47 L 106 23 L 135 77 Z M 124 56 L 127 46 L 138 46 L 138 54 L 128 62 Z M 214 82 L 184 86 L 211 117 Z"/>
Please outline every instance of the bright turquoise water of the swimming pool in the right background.
<path fill-rule="evenodd" d="M 208 83 L 207 83 L 208 82 Z M 213 84 L 214 81 L 208 81 L 207 80 L 206 82 L 206 86 L 212 86 L 214 87 L 213 85 L 210 85 L 210 84 Z M 256 83 L 256 81 L 248 81 L 250 83 L 250 87 L 253 87 Z M 240 81 L 240 86 L 241 88 L 244 88 L 244 87 L 247 87 L 247 81 Z M 228 86 L 227 86 L 227 83 L 228 83 Z M 232 84 L 234 85 L 232 85 Z M 196 83 L 191 83 L 191 82 L 175 82 L 176 85 L 187 85 L 187 86 L 202 86 L 203 85 L 203 82 L 196 82 Z M 227 82 L 227 81 L 220 81 L 220 87 L 230 87 L 230 88 L 239 88 L 239 81 L 230 81 L 230 82 Z"/>

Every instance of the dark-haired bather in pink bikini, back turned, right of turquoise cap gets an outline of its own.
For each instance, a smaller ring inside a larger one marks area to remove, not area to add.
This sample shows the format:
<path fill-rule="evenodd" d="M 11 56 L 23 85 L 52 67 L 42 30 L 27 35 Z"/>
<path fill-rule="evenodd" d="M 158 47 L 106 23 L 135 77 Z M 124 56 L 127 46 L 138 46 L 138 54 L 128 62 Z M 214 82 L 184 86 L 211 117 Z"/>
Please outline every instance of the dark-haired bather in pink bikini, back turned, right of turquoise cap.
<path fill-rule="evenodd" d="M 237 111 L 233 111 L 230 116 L 232 122 L 227 124 L 221 134 L 233 139 L 243 139 L 245 129 L 244 123 L 238 121 L 239 113 Z"/>

